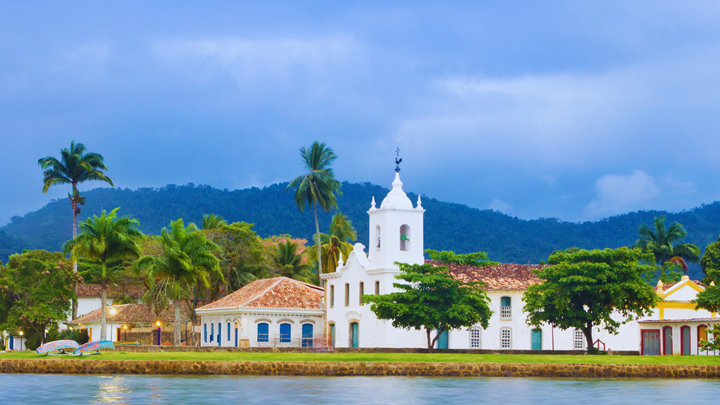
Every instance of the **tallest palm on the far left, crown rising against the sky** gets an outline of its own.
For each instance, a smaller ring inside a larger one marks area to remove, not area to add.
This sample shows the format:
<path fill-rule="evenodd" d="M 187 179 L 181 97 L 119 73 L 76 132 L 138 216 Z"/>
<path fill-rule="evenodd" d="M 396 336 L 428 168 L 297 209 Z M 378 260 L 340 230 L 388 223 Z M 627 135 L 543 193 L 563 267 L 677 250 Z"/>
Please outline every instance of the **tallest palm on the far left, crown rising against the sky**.
<path fill-rule="evenodd" d="M 77 185 L 86 181 L 104 181 L 113 186 L 112 180 L 105 175 L 107 171 L 105 159 L 99 153 L 88 152 L 82 143 L 70 142 L 70 149 L 60 150 L 60 160 L 47 156 L 38 160 L 43 171 L 43 193 L 47 193 L 56 184 L 72 185 L 72 194 L 68 193 L 73 210 L 73 238 L 77 236 L 78 205 L 85 205 L 85 198 L 80 196 Z M 77 262 L 73 264 L 77 273 Z M 73 301 L 73 319 L 77 317 L 77 302 Z"/>

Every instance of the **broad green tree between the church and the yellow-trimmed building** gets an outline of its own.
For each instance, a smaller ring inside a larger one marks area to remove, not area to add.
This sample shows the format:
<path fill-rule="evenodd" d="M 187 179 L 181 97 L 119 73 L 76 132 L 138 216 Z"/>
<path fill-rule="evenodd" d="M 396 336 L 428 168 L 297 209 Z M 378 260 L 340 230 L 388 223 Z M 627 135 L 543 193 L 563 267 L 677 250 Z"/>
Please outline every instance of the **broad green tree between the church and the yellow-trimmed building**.
<path fill-rule="evenodd" d="M 642 278 L 652 270 L 642 264 L 652 260 L 647 256 L 626 247 L 553 253 L 551 267 L 534 270 L 541 283 L 531 285 L 523 295 L 528 325 L 549 323 L 562 330 L 581 330 L 588 352 L 593 352 L 593 327 L 617 333 L 621 324 L 652 314 L 658 296 Z"/>

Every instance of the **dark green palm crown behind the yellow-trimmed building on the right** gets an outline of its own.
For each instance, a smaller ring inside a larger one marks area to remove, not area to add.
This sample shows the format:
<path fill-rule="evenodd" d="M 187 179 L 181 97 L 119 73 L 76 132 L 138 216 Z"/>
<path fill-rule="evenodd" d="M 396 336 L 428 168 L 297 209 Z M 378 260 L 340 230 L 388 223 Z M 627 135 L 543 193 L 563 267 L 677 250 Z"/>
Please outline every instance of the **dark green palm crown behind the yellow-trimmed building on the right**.
<path fill-rule="evenodd" d="M 687 236 L 685 227 L 673 222 L 669 228 L 665 228 L 665 216 L 655 217 L 654 229 L 647 224 L 638 228 L 640 238 L 635 242 L 635 247 L 650 252 L 655 256 L 655 261 L 661 266 L 667 262 L 682 263 L 687 260 L 697 263 L 700 260 L 700 248 L 694 243 L 677 243 Z M 683 269 L 687 272 L 687 268 Z"/>

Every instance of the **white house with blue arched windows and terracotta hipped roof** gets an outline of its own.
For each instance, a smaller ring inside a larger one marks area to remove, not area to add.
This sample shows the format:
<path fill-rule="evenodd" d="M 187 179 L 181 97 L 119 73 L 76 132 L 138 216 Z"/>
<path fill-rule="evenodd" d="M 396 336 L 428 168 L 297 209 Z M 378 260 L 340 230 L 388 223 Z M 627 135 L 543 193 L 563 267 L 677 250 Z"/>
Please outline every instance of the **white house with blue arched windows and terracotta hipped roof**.
<path fill-rule="evenodd" d="M 196 312 L 201 346 L 314 347 L 323 339 L 323 289 L 287 277 L 256 280 Z"/>

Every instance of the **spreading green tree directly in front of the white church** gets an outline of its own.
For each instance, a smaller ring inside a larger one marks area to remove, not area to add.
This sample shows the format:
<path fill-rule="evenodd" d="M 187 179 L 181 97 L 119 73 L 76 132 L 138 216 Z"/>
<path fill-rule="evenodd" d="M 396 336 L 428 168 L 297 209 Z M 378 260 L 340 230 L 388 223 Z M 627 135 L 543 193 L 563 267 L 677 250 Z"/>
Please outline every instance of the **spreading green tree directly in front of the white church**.
<path fill-rule="evenodd" d="M 403 282 L 393 287 L 400 292 L 363 295 L 378 319 L 392 320 L 396 328 L 425 329 L 430 353 L 445 331 L 477 324 L 488 327 L 493 312 L 483 283 L 459 281 L 446 266 L 395 264 L 400 268 L 395 278 Z M 433 330 L 435 338 L 430 336 Z"/>

